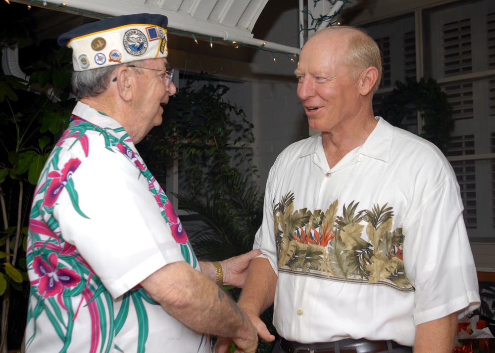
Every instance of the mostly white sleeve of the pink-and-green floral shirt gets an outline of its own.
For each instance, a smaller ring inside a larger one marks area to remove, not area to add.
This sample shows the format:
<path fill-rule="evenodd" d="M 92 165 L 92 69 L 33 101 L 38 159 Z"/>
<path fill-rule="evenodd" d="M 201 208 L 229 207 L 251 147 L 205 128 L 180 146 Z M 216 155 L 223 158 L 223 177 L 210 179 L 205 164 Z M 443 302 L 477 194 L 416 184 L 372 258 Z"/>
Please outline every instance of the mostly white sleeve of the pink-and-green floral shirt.
<path fill-rule="evenodd" d="M 84 160 L 54 208 L 65 241 L 74 245 L 113 298 L 164 265 L 184 261 L 148 182 L 109 150 Z M 76 200 L 76 201 L 73 201 Z"/>

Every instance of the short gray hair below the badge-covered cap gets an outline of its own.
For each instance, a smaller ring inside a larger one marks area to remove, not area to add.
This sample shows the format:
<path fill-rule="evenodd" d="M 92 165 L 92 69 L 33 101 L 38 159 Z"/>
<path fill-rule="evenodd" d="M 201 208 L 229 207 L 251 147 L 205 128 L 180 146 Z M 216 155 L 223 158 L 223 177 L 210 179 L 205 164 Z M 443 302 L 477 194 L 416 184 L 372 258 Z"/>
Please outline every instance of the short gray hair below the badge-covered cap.
<path fill-rule="evenodd" d="M 132 64 L 136 64 L 143 60 L 138 60 Z M 78 98 L 96 97 L 103 93 L 110 85 L 111 80 L 115 77 L 115 71 L 125 64 L 117 64 L 112 66 L 100 67 L 98 69 L 86 71 L 74 71 L 72 73 L 72 93 Z M 141 70 L 137 70 L 141 73 Z"/>

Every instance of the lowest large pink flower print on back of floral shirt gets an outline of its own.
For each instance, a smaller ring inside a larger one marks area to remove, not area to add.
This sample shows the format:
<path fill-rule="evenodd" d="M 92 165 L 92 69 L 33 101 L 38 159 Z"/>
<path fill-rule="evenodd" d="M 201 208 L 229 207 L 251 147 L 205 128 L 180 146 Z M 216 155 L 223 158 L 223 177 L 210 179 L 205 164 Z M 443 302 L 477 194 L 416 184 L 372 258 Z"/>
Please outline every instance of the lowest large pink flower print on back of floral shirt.
<path fill-rule="evenodd" d="M 38 293 L 43 298 L 54 297 L 61 294 L 66 288 L 72 288 L 81 281 L 81 276 L 75 270 L 60 267 L 57 268 L 58 258 L 55 253 L 48 257 L 49 263 L 44 261 L 41 256 L 35 256 L 33 268 L 35 273 L 40 276 L 38 283 Z"/>

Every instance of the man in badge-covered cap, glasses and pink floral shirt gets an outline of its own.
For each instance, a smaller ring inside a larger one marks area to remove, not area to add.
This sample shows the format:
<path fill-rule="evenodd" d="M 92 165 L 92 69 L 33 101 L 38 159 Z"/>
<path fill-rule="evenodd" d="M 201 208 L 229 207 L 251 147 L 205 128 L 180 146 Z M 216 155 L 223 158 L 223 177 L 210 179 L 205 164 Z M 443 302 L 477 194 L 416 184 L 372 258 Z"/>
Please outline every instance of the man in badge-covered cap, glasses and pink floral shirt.
<path fill-rule="evenodd" d="M 259 252 L 199 263 L 135 147 L 177 90 L 166 26 L 138 14 L 59 38 L 80 101 L 34 195 L 28 352 L 203 353 L 209 334 L 255 350 L 254 326 L 215 281 L 242 286 Z"/>

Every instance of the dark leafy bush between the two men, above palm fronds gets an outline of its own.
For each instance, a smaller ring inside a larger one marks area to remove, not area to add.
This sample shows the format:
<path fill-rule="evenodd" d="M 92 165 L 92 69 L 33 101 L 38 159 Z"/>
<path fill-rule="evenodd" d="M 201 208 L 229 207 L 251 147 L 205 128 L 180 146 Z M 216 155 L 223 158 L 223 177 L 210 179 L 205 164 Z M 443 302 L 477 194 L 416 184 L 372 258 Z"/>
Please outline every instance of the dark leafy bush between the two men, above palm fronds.
<path fill-rule="evenodd" d="M 195 88 L 202 80 L 208 80 L 208 74 L 193 76 L 170 98 L 162 125 L 141 142 L 140 153 L 153 161 L 148 167 L 157 179 L 165 179 L 167 157 L 175 158 L 190 177 L 192 192 L 208 190 L 210 197 L 218 197 L 223 181 L 243 172 L 230 165 L 231 152 L 240 154 L 248 171 L 256 174 L 244 148 L 254 137 L 243 109 L 223 99 L 229 88 L 213 84 Z"/>

